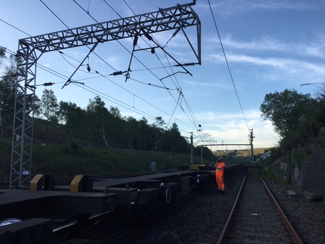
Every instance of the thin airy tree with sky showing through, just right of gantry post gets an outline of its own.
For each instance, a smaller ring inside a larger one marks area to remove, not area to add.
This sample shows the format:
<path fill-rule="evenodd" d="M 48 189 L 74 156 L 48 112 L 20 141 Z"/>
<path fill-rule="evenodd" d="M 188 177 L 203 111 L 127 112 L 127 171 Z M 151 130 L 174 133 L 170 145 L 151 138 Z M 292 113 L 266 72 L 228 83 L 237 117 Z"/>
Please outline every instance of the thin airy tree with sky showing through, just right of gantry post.
<path fill-rule="evenodd" d="M 41 99 L 41 114 L 46 120 L 46 141 L 48 141 L 49 122 L 58 122 L 57 108 L 58 104 L 53 90 L 44 89 Z"/>

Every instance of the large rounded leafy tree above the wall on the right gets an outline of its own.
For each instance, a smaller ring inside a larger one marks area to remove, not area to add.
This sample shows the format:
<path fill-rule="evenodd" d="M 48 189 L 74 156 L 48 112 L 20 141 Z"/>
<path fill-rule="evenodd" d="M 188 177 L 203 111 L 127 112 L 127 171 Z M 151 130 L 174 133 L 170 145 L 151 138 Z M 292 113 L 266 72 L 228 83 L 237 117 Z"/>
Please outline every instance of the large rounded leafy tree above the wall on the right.
<path fill-rule="evenodd" d="M 285 89 L 265 95 L 259 110 L 264 120 L 270 119 L 274 131 L 285 137 L 289 132 L 296 131 L 299 123 L 312 113 L 314 99 L 310 94 L 299 94 L 296 90 Z"/>

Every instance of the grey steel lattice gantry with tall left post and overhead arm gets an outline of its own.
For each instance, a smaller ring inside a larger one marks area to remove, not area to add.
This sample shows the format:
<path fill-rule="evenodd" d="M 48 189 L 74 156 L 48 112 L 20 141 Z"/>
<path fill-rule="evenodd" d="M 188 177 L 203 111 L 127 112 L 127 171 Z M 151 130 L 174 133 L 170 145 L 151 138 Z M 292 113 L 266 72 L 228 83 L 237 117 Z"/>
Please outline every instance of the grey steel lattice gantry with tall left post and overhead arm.
<path fill-rule="evenodd" d="M 40 56 L 44 52 L 196 26 L 197 50 L 188 39 L 187 41 L 198 59 L 198 64 L 201 64 L 201 22 L 191 8 L 195 1 L 147 14 L 19 40 L 10 189 L 26 185 L 31 177 L 33 100 L 36 90 L 36 65 Z"/>

